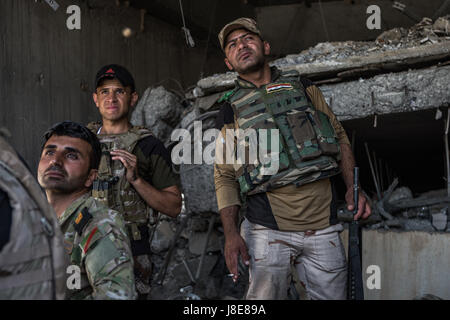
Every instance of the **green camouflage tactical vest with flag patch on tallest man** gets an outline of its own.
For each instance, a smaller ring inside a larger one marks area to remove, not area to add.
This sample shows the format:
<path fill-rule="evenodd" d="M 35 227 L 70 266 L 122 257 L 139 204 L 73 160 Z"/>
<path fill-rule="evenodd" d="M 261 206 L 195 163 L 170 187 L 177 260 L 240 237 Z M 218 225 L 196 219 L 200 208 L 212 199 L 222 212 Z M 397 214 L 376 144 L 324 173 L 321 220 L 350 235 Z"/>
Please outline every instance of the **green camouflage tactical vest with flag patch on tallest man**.
<path fill-rule="evenodd" d="M 260 159 L 235 165 L 241 195 L 266 192 L 288 184 L 301 186 L 339 173 L 340 147 L 329 117 L 317 110 L 306 97 L 296 71 L 284 72 L 261 88 L 241 85 L 225 99 L 231 104 L 240 129 L 255 129 L 257 141 L 261 129 L 279 130 L 279 169 L 266 175 Z M 266 141 L 270 142 L 270 137 Z M 248 148 L 248 145 L 246 146 Z M 246 151 L 248 154 L 248 151 Z"/>

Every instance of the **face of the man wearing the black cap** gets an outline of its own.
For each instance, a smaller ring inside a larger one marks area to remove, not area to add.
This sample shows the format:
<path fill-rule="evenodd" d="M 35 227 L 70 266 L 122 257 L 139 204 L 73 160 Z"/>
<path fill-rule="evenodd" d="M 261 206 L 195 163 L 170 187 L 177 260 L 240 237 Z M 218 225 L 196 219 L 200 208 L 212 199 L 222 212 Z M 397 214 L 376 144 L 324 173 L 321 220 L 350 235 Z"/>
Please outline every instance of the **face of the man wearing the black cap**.
<path fill-rule="evenodd" d="M 93 94 L 93 99 L 102 119 L 115 122 L 128 118 L 137 101 L 137 94 L 117 79 L 106 79 Z"/>

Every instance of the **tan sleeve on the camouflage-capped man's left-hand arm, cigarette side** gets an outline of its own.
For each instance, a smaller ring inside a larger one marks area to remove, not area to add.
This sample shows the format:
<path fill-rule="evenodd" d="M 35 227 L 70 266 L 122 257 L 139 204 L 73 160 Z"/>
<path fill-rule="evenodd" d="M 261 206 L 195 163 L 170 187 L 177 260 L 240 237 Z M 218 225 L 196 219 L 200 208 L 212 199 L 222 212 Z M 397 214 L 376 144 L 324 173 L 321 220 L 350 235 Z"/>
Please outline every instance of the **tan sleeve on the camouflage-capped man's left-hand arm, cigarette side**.
<path fill-rule="evenodd" d="M 214 184 L 219 210 L 234 205 L 241 205 L 240 189 L 236 181 L 234 167 L 232 164 L 225 164 L 226 147 L 229 147 L 225 139 L 226 129 L 234 129 L 234 125 L 226 124 L 222 127 L 221 136 L 216 140 L 216 161 L 214 163 Z"/>

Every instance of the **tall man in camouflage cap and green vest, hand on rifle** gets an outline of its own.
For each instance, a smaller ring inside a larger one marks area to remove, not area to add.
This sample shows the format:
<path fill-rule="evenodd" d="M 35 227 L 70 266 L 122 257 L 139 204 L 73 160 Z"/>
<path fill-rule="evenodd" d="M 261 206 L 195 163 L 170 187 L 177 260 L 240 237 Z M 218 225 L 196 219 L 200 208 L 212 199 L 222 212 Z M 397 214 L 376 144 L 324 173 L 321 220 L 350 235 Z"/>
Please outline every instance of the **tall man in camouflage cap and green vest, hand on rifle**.
<path fill-rule="evenodd" d="M 278 132 L 278 143 L 272 146 L 278 149 L 270 150 L 268 144 L 268 151 L 277 155 L 269 164 L 220 159 L 214 166 L 225 259 L 233 281 L 239 277 L 241 257 L 249 265 L 247 299 L 286 299 L 292 263 L 310 299 L 345 299 L 346 257 L 339 237 L 343 228 L 330 224 L 335 200 L 330 178 L 342 172 L 352 210 L 355 161 L 346 133 L 311 81 L 268 65 L 270 45 L 254 20 L 239 18 L 227 24 L 219 42 L 225 64 L 238 78 L 235 88 L 219 100 L 222 138 L 217 139 L 216 156 L 236 145 L 227 129 L 255 130 L 258 140 Z M 242 141 L 237 143 L 243 143 L 249 155 L 249 142 Z M 278 170 L 268 174 L 265 169 L 275 164 Z M 364 196 L 358 208 L 356 219 L 371 214 Z"/>

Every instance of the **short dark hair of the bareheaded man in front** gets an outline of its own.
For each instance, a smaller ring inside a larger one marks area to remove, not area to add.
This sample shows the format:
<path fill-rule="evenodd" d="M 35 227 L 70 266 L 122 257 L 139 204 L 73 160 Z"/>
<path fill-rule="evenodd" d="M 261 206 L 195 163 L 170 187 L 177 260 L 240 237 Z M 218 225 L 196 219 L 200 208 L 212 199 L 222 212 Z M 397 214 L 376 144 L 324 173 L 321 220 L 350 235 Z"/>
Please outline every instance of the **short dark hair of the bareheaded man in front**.
<path fill-rule="evenodd" d="M 91 164 L 89 169 L 98 169 L 98 166 L 100 165 L 100 158 L 102 156 L 102 148 L 97 136 L 91 130 L 82 124 L 73 121 L 58 122 L 44 133 L 41 153 L 42 150 L 44 150 L 45 144 L 53 135 L 78 138 L 89 143 L 92 147 L 92 152 L 90 155 Z"/>

